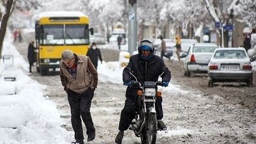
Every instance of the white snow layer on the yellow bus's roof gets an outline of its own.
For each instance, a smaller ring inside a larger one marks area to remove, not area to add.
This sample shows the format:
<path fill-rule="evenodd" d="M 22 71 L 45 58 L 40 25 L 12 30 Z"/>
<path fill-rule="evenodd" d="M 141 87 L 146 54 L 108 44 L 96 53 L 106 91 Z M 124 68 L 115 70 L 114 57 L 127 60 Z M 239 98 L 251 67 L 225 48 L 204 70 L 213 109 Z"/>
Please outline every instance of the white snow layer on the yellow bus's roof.
<path fill-rule="evenodd" d="M 34 15 L 34 20 L 40 20 L 42 17 L 87 17 L 84 13 L 79 11 L 52 11 L 42 12 Z"/>

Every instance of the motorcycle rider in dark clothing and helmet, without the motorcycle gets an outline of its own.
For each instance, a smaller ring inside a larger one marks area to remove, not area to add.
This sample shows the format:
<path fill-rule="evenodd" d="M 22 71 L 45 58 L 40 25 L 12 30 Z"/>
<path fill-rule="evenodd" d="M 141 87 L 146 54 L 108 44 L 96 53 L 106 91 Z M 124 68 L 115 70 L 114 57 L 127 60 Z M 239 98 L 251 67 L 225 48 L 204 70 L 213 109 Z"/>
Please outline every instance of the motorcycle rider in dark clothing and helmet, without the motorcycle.
<path fill-rule="evenodd" d="M 115 143 L 118 144 L 122 143 L 124 131 L 129 128 L 135 116 L 138 102 L 138 88 L 131 86 L 131 81 L 135 81 L 135 79 L 129 72 L 132 72 L 140 83 L 144 83 L 144 81 L 156 82 L 161 76 L 164 86 L 168 86 L 171 79 L 171 72 L 165 66 L 163 59 L 154 55 L 153 43 L 150 40 L 142 40 L 138 45 L 138 54 L 131 56 L 127 67 L 123 71 L 123 81 L 127 89 L 124 109 L 122 109 L 120 116 L 119 132 L 115 138 Z M 163 118 L 162 101 L 162 97 L 156 98 L 157 127 L 160 130 L 165 130 L 166 125 L 161 120 Z"/>

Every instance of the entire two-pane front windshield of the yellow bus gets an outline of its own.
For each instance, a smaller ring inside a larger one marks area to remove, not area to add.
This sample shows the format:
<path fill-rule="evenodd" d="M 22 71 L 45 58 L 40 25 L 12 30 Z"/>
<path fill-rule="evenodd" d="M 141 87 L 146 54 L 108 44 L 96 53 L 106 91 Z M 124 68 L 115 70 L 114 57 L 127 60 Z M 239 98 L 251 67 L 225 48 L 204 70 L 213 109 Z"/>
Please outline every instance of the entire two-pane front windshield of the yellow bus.
<path fill-rule="evenodd" d="M 89 30 L 86 24 L 42 25 L 41 45 L 89 44 Z"/>

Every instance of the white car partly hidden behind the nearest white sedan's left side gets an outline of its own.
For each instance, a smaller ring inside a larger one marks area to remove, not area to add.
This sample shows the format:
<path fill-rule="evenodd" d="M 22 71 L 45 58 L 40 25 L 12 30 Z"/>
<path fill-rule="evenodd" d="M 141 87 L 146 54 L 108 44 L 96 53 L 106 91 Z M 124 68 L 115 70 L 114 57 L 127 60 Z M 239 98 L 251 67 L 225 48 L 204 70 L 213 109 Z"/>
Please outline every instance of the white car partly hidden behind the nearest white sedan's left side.
<path fill-rule="evenodd" d="M 184 59 L 184 76 L 190 77 L 193 73 L 207 73 L 208 63 L 212 54 L 219 46 L 211 43 L 193 44 L 188 49 Z"/>

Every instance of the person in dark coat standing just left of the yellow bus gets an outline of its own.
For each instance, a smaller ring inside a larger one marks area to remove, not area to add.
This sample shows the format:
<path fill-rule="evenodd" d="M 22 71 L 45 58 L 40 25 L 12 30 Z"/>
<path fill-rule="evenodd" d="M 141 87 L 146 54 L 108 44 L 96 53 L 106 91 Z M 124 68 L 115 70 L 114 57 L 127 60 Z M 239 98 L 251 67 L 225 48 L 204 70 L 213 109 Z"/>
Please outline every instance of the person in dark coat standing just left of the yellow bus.
<path fill-rule="evenodd" d="M 33 63 L 36 62 L 36 48 L 34 47 L 34 41 L 30 42 L 28 45 L 28 62 L 29 62 L 29 72 L 32 73 L 31 68 L 34 66 Z"/>

